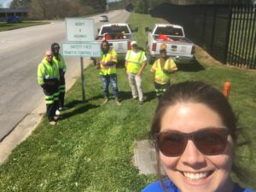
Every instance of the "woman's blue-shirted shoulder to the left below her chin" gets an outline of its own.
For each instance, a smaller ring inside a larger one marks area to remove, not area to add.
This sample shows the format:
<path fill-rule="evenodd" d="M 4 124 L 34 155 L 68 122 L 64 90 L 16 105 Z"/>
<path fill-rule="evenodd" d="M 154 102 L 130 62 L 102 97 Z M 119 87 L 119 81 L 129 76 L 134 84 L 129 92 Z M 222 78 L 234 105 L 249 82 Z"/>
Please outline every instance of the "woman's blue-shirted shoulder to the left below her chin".
<path fill-rule="evenodd" d="M 174 185 L 174 183 L 172 183 L 172 181 L 170 181 L 169 179 L 163 180 L 163 183 L 165 185 L 165 188 L 160 181 L 156 181 L 154 183 L 148 184 L 148 186 L 146 186 L 143 189 L 143 192 L 178 192 L 179 191 L 177 187 Z"/>

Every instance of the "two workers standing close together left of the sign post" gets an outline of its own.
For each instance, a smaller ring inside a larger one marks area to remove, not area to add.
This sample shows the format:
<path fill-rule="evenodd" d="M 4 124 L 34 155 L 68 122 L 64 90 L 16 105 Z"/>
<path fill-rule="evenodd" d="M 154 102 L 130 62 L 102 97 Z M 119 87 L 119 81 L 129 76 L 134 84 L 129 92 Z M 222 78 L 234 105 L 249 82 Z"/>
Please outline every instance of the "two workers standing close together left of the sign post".
<path fill-rule="evenodd" d="M 67 67 L 60 54 L 60 45 L 51 44 L 46 50 L 44 59 L 38 65 L 38 84 L 43 88 L 46 103 L 46 113 L 50 125 L 55 125 L 64 106 L 66 92 L 65 73 Z"/>

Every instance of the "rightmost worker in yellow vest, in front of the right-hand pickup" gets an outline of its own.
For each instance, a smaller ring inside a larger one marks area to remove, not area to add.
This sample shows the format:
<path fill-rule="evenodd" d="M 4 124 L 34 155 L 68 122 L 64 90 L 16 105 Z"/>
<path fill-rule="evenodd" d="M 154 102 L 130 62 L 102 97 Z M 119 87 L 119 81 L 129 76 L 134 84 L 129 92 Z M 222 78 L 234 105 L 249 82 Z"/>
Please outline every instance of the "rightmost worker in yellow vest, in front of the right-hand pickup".
<path fill-rule="evenodd" d="M 171 85 L 170 74 L 177 71 L 175 62 L 166 55 L 166 44 L 160 45 L 160 58 L 154 61 L 150 71 L 154 73 L 154 89 L 160 98 Z"/>

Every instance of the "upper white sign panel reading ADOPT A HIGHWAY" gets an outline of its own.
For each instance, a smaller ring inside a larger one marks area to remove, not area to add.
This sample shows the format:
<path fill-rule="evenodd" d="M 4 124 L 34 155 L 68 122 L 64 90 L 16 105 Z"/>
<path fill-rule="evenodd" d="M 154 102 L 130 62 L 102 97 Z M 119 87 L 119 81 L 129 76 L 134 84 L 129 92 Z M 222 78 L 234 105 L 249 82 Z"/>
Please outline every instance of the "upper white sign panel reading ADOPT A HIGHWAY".
<path fill-rule="evenodd" d="M 93 19 L 66 18 L 67 41 L 94 41 L 95 27 Z"/>

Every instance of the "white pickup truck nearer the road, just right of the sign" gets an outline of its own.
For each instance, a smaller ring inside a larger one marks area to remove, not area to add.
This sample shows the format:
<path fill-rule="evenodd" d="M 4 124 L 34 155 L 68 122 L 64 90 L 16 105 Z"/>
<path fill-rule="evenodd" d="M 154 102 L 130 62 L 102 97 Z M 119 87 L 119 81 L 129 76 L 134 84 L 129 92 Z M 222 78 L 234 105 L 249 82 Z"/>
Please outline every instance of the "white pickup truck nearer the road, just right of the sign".
<path fill-rule="evenodd" d="M 131 30 L 127 23 L 110 23 L 102 25 L 98 32 L 97 41 L 108 40 L 119 56 L 125 56 L 127 50 L 131 49 L 131 41 L 133 41 L 131 32 L 137 32 L 137 27 Z"/>

